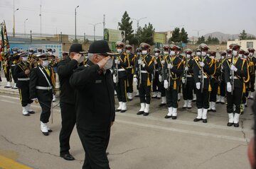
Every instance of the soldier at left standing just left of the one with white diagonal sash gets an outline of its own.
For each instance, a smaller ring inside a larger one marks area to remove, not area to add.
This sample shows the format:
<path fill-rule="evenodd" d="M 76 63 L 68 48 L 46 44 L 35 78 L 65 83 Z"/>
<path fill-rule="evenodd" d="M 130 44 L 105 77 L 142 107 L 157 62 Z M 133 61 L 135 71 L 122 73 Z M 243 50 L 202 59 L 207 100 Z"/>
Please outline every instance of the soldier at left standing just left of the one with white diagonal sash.
<path fill-rule="evenodd" d="M 14 74 L 17 77 L 17 87 L 21 99 L 22 114 L 29 116 L 35 112 L 31 109 L 31 103 L 33 100 L 29 97 L 29 80 L 30 80 L 30 68 L 28 64 L 28 52 L 22 52 L 18 54 L 21 58 L 21 62 L 18 62 L 14 68 Z"/>

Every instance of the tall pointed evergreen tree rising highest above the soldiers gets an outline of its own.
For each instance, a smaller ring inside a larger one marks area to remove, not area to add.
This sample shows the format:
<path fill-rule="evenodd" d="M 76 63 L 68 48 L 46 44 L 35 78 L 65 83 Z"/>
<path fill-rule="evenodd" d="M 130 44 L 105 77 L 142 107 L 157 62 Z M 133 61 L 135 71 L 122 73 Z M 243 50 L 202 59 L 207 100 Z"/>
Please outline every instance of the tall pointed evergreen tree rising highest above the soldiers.
<path fill-rule="evenodd" d="M 132 21 L 130 21 L 130 17 L 127 13 L 127 11 L 124 12 L 124 15 L 122 16 L 121 23 L 118 23 L 119 30 L 125 31 L 125 40 L 129 40 L 129 42 L 132 42 L 134 39 L 134 30 L 132 29 Z"/>

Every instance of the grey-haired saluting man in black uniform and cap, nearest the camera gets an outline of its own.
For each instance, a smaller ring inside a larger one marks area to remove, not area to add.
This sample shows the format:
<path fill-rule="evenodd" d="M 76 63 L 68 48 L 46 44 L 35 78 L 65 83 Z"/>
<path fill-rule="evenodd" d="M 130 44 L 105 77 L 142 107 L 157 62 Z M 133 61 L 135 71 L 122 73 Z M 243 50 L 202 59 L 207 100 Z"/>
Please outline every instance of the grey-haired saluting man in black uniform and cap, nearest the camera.
<path fill-rule="evenodd" d="M 114 122 L 114 83 L 110 69 L 113 60 L 106 57 L 110 47 L 104 40 L 92 42 L 88 62 L 70 77 L 75 88 L 78 135 L 85 149 L 83 169 L 108 169 L 106 149 Z"/>

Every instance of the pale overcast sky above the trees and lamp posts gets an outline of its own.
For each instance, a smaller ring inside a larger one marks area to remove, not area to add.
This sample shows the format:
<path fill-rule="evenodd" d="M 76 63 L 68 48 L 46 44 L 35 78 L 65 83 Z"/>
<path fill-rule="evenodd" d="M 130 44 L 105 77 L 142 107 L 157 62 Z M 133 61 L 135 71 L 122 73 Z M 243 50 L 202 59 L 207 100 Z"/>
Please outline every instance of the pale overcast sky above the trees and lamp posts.
<path fill-rule="evenodd" d="M 130 18 L 143 18 L 139 25 L 152 23 L 156 31 L 172 30 L 184 25 L 188 36 L 219 31 L 237 34 L 245 30 L 256 35 L 255 0 L 1 0 L 0 19 L 5 20 L 7 31 L 12 32 L 15 8 L 16 33 L 32 30 L 40 33 L 40 4 L 42 2 L 42 33 L 75 34 L 75 7 L 77 9 L 77 34 L 93 35 L 89 23 L 102 23 L 106 28 L 117 29 L 124 11 Z M 96 26 L 96 35 L 102 35 L 102 24 Z M 133 21 L 134 30 L 137 21 Z"/>

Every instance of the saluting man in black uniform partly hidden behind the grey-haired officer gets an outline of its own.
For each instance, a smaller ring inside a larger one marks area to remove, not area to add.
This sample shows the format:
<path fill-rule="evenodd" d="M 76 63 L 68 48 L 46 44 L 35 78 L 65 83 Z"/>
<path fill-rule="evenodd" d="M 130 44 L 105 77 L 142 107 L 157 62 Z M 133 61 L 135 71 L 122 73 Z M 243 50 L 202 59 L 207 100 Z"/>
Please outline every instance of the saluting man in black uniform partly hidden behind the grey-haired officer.
<path fill-rule="evenodd" d="M 75 95 L 74 89 L 70 86 L 69 79 L 73 74 L 73 70 L 78 68 L 78 65 L 82 63 L 84 59 L 84 56 L 82 56 L 83 53 L 81 44 L 73 44 L 70 47 L 70 56 L 58 62 L 61 110 L 60 157 L 63 157 L 67 161 L 75 160 L 69 152 L 69 141 L 76 121 Z"/>

